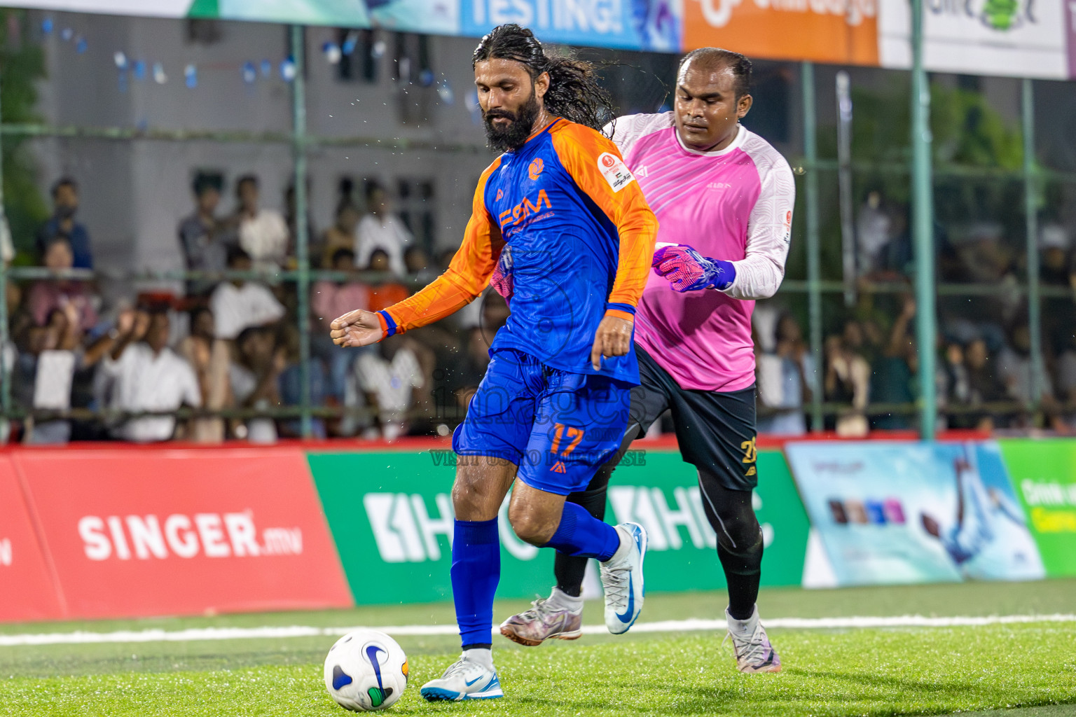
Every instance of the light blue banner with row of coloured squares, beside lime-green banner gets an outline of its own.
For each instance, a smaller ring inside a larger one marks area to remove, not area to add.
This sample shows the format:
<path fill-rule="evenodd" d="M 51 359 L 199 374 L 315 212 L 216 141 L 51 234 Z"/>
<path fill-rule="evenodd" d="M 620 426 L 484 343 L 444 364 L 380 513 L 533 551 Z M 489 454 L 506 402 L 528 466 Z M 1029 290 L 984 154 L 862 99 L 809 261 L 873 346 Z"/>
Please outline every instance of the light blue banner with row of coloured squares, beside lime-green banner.
<path fill-rule="evenodd" d="M 837 585 L 1045 576 L 996 443 L 784 450 Z"/>

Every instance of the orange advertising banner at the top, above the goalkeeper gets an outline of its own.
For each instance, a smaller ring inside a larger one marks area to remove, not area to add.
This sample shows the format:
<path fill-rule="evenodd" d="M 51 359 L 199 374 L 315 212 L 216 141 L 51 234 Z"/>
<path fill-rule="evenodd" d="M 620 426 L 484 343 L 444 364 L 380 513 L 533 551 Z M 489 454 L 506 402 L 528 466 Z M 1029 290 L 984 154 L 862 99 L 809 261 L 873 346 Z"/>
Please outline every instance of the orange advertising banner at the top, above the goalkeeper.
<path fill-rule="evenodd" d="M 878 64 L 878 0 L 683 0 L 683 48 Z"/>

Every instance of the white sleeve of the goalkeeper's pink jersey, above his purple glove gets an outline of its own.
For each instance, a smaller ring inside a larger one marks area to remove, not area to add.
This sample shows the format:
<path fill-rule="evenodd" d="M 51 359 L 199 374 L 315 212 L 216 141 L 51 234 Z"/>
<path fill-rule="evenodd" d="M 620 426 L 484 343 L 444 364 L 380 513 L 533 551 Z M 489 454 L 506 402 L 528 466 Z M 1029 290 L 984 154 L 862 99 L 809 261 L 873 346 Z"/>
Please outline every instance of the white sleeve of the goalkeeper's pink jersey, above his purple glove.
<path fill-rule="evenodd" d="M 792 236 L 796 185 L 783 157 L 764 170 L 759 199 L 747 226 L 746 255 L 734 261 L 736 279 L 724 292 L 734 299 L 768 299 L 784 278 L 784 261 Z"/>

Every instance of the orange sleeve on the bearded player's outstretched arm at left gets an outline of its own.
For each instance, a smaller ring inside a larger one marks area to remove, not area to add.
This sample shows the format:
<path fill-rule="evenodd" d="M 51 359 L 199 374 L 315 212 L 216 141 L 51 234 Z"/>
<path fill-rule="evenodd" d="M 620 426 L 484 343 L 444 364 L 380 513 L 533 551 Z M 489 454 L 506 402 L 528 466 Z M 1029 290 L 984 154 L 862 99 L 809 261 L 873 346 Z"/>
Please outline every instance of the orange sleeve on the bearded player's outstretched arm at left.
<path fill-rule="evenodd" d="M 485 209 L 485 185 L 499 166 L 498 158 L 478 181 L 464 241 L 448 270 L 413 296 L 378 312 L 384 335 L 404 333 L 454 314 L 485 289 L 505 246 L 500 228 Z"/>

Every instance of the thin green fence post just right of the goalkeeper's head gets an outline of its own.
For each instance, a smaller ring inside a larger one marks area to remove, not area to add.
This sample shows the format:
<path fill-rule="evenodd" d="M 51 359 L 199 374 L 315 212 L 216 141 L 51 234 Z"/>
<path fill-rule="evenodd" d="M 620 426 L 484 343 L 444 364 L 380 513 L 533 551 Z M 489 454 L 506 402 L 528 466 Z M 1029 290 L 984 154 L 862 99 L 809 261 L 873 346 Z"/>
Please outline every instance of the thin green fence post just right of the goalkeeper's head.
<path fill-rule="evenodd" d="M 815 375 L 811 386 L 810 428 L 822 430 L 822 247 L 818 216 L 818 117 L 815 111 L 815 64 L 802 62 L 799 84 L 803 94 L 804 112 L 804 176 L 806 189 L 804 214 L 807 221 L 807 311 L 809 322 L 810 354 L 815 359 Z"/>

